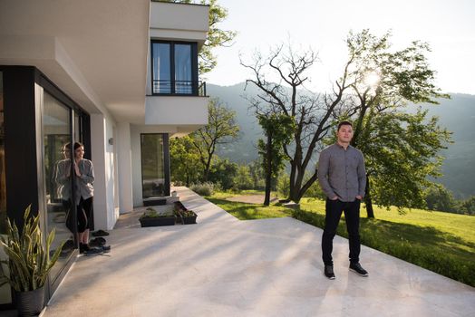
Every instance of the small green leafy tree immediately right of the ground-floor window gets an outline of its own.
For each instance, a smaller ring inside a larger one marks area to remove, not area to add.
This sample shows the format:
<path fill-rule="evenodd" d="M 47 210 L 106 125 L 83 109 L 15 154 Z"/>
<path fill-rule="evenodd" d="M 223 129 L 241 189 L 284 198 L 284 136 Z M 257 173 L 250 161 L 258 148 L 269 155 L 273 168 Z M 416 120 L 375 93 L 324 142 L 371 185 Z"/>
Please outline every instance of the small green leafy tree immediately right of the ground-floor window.
<path fill-rule="evenodd" d="M 199 152 L 189 136 L 170 139 L 170 170 L 171 180 L 175 183 L 189 187 L 199 181 Z"/>

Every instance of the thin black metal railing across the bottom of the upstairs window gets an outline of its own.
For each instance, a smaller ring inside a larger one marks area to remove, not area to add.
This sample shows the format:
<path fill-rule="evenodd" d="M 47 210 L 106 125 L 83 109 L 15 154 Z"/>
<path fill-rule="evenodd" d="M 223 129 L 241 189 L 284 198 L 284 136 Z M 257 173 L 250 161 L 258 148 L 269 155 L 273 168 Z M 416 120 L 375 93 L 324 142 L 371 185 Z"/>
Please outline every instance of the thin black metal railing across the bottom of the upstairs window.
<path fill-rule="evenodd" d="M 153 95 L 206 96 L 206 82 L 153 80 Z"/>

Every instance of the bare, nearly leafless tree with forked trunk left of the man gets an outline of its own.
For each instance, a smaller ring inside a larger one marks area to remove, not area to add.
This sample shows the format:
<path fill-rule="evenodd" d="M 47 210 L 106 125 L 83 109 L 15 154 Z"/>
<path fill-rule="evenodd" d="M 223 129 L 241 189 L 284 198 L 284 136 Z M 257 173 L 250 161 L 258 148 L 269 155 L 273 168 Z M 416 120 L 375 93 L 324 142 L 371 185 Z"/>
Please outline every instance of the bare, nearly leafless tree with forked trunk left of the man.
<path fill-rule="evenodd" d="M 350 88 L 349 60 L 344 67 L 344 75 L 335 82 L 334 91 L 322 95 L 305 89 L 309 80 L 307 73 L 317 61 L 312 49 L 296 53 L 291 44 L 279 45 L 271 50 L 268 57 L 256 53 L 252 62 L 241 65 L 253 73 L 247 83 L 257 86 L 257 98 L 252 98 L 251 107 L 257 113 L 273 112 L 293 118 L 295 130 L 292 142 L 283 145 L 286 159 L 290 162 L 289 198 L 299 202 L 305 191 L 317 179 L 315 154 L 322 147 L 322 140 L 333 127 L 334 114 L 345 104 L 344 92 Z M 279 82 L 270 82 L 267 77 L 276 76 Z M 305 171 L 312 168 L 310 177 Z"/>

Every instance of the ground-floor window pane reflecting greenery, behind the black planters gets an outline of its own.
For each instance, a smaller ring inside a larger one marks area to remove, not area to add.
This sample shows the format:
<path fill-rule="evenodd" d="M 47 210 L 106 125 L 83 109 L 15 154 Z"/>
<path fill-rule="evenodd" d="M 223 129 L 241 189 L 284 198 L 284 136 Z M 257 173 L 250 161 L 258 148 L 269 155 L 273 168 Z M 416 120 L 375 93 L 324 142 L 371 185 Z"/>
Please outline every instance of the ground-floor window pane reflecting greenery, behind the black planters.
<path fill-rule="evenodd" d="M 168 136 L 161 133 L 141 134 L 142 197 L 170 195 Z"/>

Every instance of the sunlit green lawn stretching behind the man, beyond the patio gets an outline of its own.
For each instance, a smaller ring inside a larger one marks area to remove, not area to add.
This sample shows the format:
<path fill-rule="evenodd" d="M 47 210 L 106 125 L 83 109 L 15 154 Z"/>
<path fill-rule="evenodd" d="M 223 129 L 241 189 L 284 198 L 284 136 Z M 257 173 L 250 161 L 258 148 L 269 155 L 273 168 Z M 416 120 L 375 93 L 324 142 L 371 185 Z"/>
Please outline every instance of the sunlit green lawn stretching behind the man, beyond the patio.
<path fill-rule="evenodd" d="M 226 200 L 232 194 L 218 193 L 208 200 L 241 220 L 294 216 L 313 226 L 325 225 L 325 202 L 303 198 L 300 209 L 237 203 Z M 365 216 L 362 207 L 362 244 L 422 266 L 461 283 L 475 286 L 475 216 L 420 209 L 400 215 L 396 208 L 374 207 L 376 219 Z M 347 237 L 344 216 L 338 235 Z"/>

